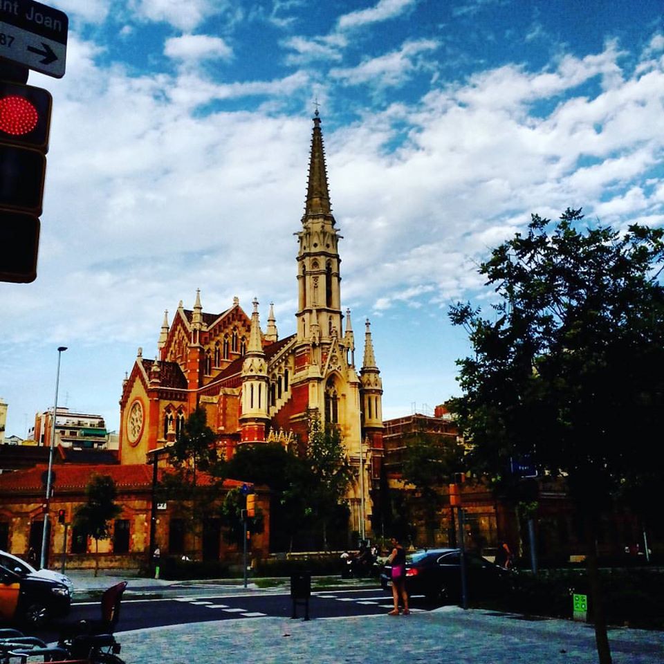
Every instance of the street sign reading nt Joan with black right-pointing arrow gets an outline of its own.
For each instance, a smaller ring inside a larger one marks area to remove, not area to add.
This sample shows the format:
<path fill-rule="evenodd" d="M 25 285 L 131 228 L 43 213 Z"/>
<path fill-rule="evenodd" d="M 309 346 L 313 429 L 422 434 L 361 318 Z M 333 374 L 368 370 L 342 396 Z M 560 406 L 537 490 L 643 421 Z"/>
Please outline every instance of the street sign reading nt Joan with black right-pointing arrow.
<path fill-rule="evenodd" d="M 62 78 L 69 19 L 34 0 L 0 0 L 0 57 Z"/>

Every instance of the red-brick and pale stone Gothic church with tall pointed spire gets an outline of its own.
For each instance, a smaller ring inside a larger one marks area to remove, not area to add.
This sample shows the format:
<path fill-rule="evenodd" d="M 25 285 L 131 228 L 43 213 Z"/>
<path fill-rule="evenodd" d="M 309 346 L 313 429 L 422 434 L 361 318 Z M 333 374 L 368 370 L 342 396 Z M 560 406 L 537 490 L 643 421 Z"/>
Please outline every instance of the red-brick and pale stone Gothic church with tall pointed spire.
<path fill-rule="evenodd" d="M 221 313 L 181 301 L 165 313 L 154 360 L 138 357 L 122 385 L 120 463 L 145 463 L 172 443 L 202 407 L 220 454 L 239 445 L 306 445 L 311 412 L 339 427 L 356 481 L 347 496 L 352 531 L 369 530 L 371 493 L 382 463 L 382 380 L 366 322 L 356 367 L 351 312 L 341 304 L 340 234 L 332 214 L 318 111 L 313 118 L 306 204 L 296 233 L 296 332 L 280 339 L 270 305 L 261 329 L 259 302 L 239 299 Z"/>

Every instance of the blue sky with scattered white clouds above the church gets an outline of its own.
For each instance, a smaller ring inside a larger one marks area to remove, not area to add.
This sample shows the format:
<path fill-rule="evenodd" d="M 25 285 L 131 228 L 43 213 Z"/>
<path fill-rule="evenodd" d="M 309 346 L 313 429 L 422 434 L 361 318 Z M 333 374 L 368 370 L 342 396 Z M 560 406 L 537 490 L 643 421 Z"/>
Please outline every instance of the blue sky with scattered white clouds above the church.
<path fill-rule="evenodd" d="M 58 0 L 37 279 L 0 284 L 6 434 L 58 405 L 117 430 L 183 300 L 295 330 L 318 104 L 358 353 L 385 418 L 458 395 L 451 304 L 531 213 L 664 225 L 661 0 Z M 2 248 L 0 248 L 1 255 Z"/>

